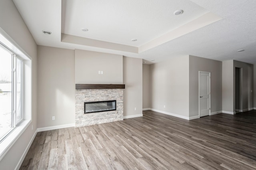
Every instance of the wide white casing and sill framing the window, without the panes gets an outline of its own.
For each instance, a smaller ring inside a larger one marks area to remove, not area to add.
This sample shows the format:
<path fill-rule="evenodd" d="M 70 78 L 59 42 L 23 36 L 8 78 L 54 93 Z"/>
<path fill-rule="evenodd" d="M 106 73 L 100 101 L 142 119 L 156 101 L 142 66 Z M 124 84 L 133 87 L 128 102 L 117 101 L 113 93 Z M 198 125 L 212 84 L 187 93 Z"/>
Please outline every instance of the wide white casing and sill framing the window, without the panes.
<path fill-rule="evenodd" d="M 36 128 L 33 130 L 32 124 L 32 57 L 26 53 L 2 28 L 0 28 L 0 42 L 5 47 L 13 51 L 20 59 L 23 60 L 23 121 L 19 122 L 18 126 L 12 130 L 12 132 L 2 140 L 0 143 L 0 161 L 12 148 L 19 137 L 30 126 L 36 135 Z M 32 142 L 32 139 L 30 142 Z M 30 139 L 29 139 L 30 140 Z"/>

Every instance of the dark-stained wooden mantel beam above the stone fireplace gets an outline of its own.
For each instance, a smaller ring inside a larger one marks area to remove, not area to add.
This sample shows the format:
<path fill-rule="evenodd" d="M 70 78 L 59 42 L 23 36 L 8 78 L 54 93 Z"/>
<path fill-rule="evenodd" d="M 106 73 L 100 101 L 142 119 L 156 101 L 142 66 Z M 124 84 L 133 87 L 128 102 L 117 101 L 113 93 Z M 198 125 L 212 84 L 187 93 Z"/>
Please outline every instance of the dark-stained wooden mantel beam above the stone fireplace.
<path fill-rule="evenodd" d="M 76 89 L 124 89 L 123 84 L 76 84 Z"/>

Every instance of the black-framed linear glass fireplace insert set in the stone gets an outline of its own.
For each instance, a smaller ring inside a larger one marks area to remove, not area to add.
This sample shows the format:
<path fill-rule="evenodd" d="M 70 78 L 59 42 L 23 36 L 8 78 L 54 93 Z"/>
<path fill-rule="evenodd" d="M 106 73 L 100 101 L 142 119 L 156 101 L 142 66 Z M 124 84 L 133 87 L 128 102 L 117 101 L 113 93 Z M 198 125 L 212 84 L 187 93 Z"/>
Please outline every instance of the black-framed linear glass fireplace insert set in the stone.
<path fill-rule="evenodd" d="M 116 100 L 84 102 L 84 113 L 96 113 L 116 110 Z"/>

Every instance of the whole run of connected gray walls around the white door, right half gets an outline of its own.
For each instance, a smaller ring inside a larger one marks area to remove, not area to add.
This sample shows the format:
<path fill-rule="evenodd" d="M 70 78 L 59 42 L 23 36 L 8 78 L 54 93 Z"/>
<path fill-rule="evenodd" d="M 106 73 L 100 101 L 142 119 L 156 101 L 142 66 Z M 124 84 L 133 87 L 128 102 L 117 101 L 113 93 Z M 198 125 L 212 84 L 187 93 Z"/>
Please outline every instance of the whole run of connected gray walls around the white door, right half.
<path fill-rule="evenodd" d="M 189 64 L 189 66 L 188 66 Z M 150 95 L 143 94 L 143 99 L 150 101 L 147 107 L 186 117 L 198 116 L 198 72 L 211 72 L 211 113 L 235 112 L 235 67 L 242 68 L 242 110 L 256 107 L 256 65 L 240 61 L 216 61 L 196 56 L 179 57 L 150 65 Z M 186 69 L 189 70 L 186 72 Z M 148 68 L 144 68 L 143 76 L 147 81 Z M 186 73 L 189 82 L 186 82 Z M 179 76 L 176 76 L 179 75 Z M 185 79 L 183 79 L 185 78 Z M 144 82 L 143 81 L 143 82 Z M 185 89 L 180 91 L 180 89 Z M 189 94 L 186 91 L 189 87 Z M 180 95 L 179 95 L 180 94 Z M 189 96 L 189 100 L 186 97 Z M 184 100 L 182 100 L 182 97 Z M 143 101 L 148 104 L 148 101 Z M 187 104 L 189 103 L 189 106 Z M 166 108 L 163 107 L 166 105 Z M 184 111 L 181 111 L 182 108 Z M 189 111 L 186 109 L 189 108 Z M 189 113 L 189 114 L 188 114 Z"/>

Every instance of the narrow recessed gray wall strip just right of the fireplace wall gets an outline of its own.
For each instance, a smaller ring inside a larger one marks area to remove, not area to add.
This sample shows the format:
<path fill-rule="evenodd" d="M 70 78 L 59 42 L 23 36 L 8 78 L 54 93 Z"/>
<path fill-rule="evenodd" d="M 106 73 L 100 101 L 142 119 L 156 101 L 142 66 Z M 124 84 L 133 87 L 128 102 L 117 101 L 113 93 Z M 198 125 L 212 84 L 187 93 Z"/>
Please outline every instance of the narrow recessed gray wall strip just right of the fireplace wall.
<path fill-rule="evenodd" d="M 151 108 L 150 65 L 142 65 L 142 108 Z"/>

